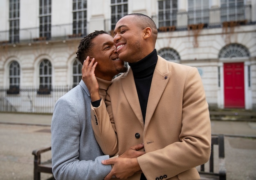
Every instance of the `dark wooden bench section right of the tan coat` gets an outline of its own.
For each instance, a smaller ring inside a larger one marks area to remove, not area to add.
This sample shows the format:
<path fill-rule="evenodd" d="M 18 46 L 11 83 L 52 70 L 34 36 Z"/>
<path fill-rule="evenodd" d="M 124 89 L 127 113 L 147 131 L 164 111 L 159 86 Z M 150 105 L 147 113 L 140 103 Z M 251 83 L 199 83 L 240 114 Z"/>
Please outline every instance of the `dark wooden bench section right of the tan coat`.
<path fill-rule="evenodd" d="M 218 158 L 214 156 L 214 146 L 218 146 Z M 218 171 L 214 169 L 216 166 Z M 206 170 L 206 166 L 208 168 Z M 224 135 L 212 135 L 211 136 L 211 156 L 209 161 L 206 164 L 200 166 L 199 174 L 201 180 L 226 180 L 226 168 L 225 168 L 225 151 L 224 151 Z"/>

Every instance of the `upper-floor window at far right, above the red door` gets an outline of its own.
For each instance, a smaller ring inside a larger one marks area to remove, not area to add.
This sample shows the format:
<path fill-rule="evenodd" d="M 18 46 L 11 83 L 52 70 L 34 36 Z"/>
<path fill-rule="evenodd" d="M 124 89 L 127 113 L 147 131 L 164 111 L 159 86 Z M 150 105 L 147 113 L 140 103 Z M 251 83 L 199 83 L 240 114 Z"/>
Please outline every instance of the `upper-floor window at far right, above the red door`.
<path fill-rule="evenodd" d="M 221 0 L 221 22 L 245 20 L 244 0 Z"/>

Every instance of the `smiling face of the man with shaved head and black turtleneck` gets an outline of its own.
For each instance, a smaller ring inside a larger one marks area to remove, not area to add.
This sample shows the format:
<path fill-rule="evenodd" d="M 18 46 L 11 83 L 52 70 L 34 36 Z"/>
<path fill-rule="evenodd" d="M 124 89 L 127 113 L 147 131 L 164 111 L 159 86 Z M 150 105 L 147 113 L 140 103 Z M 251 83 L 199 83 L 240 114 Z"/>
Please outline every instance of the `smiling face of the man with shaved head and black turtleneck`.
<path fill-rule="evenodd" d="M 121 18 L 114 30 L 114 42 L 121 60 L 137 62 L 154 50 L 151 29 L 137 16 L 128 15 Z"/>

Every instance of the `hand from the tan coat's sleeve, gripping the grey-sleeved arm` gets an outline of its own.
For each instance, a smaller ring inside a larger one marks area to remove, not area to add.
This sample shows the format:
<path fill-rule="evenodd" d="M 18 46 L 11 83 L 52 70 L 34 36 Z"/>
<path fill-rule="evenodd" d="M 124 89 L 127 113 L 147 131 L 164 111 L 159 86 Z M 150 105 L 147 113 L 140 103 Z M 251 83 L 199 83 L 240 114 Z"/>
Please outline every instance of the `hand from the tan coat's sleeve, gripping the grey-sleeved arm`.
<path fill-rule="evenodd" d="M 104 180 L 110 180 L 112 176 L 120 179 L 126 179 L 134 173 L 141 171 L 137 158 L 113 158 L 101 161 L 102 164 L 114 164 L 110 173 Z"/>

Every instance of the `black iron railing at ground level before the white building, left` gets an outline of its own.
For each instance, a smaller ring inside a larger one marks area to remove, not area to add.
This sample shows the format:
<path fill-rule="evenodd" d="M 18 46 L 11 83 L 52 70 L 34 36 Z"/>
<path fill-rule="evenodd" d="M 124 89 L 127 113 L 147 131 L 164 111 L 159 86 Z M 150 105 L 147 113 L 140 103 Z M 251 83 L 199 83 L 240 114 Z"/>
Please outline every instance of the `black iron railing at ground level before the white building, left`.
<path fill-rule="evenodd" d="M 40 89 L 22 88 L 16 91 L 0 88 L 0 112 L 53 113 L 56 101 L 71 87 L 55 87 L 47 93 Z"/>

